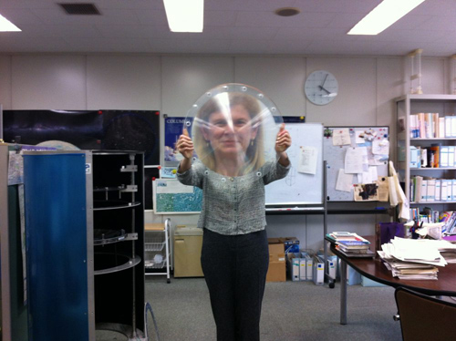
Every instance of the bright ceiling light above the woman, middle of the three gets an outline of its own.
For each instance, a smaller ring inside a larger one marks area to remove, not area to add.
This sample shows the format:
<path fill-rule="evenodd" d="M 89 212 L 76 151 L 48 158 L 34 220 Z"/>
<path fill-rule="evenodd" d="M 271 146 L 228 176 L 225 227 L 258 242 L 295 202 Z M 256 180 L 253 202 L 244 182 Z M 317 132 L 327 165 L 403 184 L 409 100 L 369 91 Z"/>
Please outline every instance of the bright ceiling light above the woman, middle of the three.
<path fill-rule="evenodd" d="M 171 32 L 202 32 L 204 0 L 163 0 Z"/>

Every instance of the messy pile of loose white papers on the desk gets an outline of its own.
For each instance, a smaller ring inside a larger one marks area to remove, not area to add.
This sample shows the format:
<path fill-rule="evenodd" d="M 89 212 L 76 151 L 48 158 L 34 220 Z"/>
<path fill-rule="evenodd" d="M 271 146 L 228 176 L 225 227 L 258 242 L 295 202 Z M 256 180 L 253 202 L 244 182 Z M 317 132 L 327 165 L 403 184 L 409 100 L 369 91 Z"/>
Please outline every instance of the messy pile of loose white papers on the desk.
<path fill-rule="evenodd" d="M 393 277 L 399 279 L 437 279 L 437 266 L 448 262 L 440 254 L 440 249 L 452 249 L 451 243 L 440 243 L 428 239 L 404 239 L 395 237 L 390 243 L 381 245 L 378 251 Z M 448 246 L 451 245 L 451 246 Z"/>

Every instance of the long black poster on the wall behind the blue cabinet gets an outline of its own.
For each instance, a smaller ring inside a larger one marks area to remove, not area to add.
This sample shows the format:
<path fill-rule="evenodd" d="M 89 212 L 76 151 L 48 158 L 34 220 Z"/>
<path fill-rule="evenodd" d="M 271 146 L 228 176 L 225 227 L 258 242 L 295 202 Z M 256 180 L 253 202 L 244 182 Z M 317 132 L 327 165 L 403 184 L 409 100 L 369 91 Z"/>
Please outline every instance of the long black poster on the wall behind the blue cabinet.
<path fill-rule="evenodd" d="M 67 142 L 80 150 L 144 151 L 146 165 L 160 164 L 160 111 L 4 110 L 5 142 Z M 64 145 L 64 143 L 60 143 Z"/>

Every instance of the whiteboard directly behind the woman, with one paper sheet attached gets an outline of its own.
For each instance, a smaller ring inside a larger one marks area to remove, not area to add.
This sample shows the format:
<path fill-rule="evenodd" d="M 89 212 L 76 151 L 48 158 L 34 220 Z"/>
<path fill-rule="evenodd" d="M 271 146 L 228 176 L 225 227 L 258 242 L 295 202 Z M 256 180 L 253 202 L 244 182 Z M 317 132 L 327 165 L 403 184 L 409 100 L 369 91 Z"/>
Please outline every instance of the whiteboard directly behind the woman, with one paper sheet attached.
<path fill-rule="evenodd" d="M 323 203 L 323 125 L 321 123 L 286 123 L 292 145 L 286 150 L 291 169 L 285 179 L 265 187 L 266 206 Z M 297 171 L 300 147 L 314 147 L 317 151 L 316 174 Z"/>

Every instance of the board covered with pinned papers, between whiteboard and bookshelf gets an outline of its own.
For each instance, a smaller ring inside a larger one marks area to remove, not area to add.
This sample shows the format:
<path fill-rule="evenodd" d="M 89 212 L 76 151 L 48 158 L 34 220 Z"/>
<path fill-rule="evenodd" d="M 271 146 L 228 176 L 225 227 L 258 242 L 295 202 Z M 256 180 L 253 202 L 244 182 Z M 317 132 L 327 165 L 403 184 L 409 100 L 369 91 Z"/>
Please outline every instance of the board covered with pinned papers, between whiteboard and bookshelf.
<path fill-rule="evenodd" d="M 335 145 L 334 137 L 341 132 L 347 132 L 348 140 L 343 145 Z M 373 139 L 371 138 L 373 136 Z M 370 140 L 372 139 L 372 140 Z M 388 142 L 387 142 L 388 141 Z M 345 144 L 349 143 L 349 144 Z M 388 148 L 386 147 L 388 143 Z M 373 153 L 378 151 L 378 144 L 383 146 L 387 153 Z M 357 174 L 352 176 L 351 191 L 339 191 L 337 187 L 337 178 L 339 170 L 346 167 L 346 156 L 349 148 L 356 149 L 366 147 L 368 150 L 368 166 L 375 167 L 378 177 L 388 176 L 389 162 L 389 127 L 372 126 L 372 127 L 325 127 L 323 139 L 323 155 L 326 160 L 326 195 L 328 202 L 354 202 L 355 184 L 362 183 L 362 176 Z"/>

